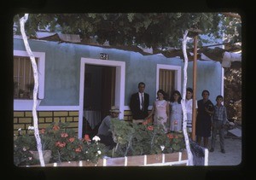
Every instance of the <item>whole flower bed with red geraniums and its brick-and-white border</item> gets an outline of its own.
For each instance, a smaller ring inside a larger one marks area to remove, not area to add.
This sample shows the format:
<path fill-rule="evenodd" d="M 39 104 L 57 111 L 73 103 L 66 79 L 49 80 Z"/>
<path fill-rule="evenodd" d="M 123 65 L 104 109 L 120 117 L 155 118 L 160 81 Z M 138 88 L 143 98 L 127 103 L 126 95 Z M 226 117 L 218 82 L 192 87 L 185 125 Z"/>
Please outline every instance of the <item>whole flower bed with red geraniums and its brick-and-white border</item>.
<path fill-rule="evenodd" d="M 162 126 L 153 125 L 149 121 L 137 125 L 119 119 L 112 120 L 111 131 L 116 142 L 113 150 L 108 150 L 98 142 L 98 136 L 92 140 L 87 135 L 79 139 L 73 131 L 67 129 L 66 124 L 54 123 L 40 130 L 43 144 L 52 152 L 49 164 L 45 166 L 186 165 L 187 163 L 183 132 L 166 134 Z M 15 136 L 15 158 L 18 160 L 15 165 L 40 166 L 38 160 L 34 161 L 32 154 L 28 153 L 29 150 L 36 148 L 34 142 L 34 136 Z"/>

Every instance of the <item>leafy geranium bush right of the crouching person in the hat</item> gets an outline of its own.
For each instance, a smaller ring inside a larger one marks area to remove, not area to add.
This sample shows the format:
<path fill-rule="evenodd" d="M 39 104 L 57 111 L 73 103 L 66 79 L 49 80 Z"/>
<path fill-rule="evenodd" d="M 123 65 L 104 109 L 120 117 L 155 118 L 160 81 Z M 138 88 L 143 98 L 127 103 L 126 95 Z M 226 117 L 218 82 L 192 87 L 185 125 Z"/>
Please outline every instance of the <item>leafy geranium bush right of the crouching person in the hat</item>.
<path fill-rule="evenodd" d="M 113 140 L 117 142 L 113 157 L 161 154 L 182 151 L 185 142 L 182 132 L 167 133 L 161 125 L 145 121 L 143 125 L 113 119 Z"/>

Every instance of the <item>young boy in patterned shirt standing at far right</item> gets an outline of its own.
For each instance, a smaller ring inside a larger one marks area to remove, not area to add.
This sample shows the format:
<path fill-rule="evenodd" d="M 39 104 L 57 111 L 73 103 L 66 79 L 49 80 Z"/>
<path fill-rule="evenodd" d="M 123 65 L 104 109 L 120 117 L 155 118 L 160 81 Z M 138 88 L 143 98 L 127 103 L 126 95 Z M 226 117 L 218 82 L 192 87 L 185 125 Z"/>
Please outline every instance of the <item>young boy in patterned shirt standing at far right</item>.
<path fill-rule="evenodd" d="M 224 125 L 227 123 L 227 112 L 226 107 L 222 105 L 223 96 L 218 95 L 216 97 L 217 104 L 214 106 L 214 113 L 212 117 L 212 148 L 210 152 L 214 151 L 215 141 L 217 133 L 219 133 L 219 142 L 221 153 L 225 153 L 224 150 Z"/>

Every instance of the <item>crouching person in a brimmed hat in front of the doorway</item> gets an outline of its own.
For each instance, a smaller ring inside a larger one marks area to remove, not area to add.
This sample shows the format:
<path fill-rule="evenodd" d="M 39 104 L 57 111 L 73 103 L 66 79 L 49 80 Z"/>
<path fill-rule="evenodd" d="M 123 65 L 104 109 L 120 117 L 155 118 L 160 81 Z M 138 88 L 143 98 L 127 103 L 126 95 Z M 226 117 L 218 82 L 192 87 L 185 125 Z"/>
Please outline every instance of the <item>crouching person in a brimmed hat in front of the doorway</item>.
<path fill-rule="evenodd" d="M 115 142 L 113 142 L 113 134 L 112 131 L 110 130 L 110 125 L 111 125 L 111 119 L 117 119 L 119 117 L 119 107 L 111 107 L 109 110 L 110 115 L 106 116 L 102 120 L 102 124 L 100 125 L 98 129 L 98 134 L 101 138 L 101 141 L 103 144 L 108 146 L 108 149 L 113 149 L 113 147 L 116 145 Z"/>

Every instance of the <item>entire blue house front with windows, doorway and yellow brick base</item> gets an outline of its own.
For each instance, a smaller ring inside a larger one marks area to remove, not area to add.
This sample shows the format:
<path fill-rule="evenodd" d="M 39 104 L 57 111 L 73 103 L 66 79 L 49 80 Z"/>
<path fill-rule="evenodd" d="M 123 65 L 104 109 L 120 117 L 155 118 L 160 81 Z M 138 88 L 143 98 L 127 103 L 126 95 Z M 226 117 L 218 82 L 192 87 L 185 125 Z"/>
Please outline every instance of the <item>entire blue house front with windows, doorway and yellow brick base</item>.
<path fill-rule="evenodd" d="M 168 96 L 183 93 L 183 66 L 179 57 L 142 55 L 138 52 L 84 44 L 29 40 L 38 63 L 38 121 L 43 128 L 54 121 L 69 122 L 79 137 L 84 135 L 84 119 L 93 129 L 119 106 L 120 119 L 131 120 L 131 94 L 144 82 L 149 94 L 149 110 L 159 89 Z M 106 58 L 107 57 L 107 58 Z M 14 133 L 27 131 L 32 123 L 32 67 L 23 39 L 14 38 Z M 224 70 L 218 61 L 197 61 L 196 99 L 210 91 L 210 100 L 224 95 Z M 193 62 L 189 61 L 187 87 L 193 86 Z M 20 91 L 25 91 L 21 96 Z"/>

